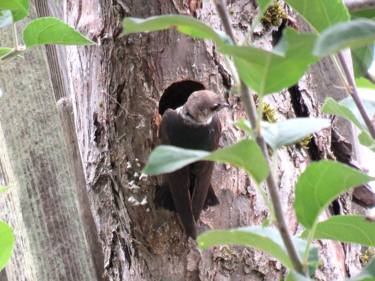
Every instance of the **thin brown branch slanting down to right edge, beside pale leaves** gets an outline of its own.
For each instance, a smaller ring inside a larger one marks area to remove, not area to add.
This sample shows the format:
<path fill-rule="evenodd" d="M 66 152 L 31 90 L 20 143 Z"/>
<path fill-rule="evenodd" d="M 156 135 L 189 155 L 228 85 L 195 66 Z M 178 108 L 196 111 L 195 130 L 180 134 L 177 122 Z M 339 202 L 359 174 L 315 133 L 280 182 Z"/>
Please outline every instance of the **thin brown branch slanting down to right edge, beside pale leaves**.
<path fill-rule="evenodd" d="M 367 115 L 366 109 L 363 106 L 363 103 L 362 103 L 361 99 L 359 98 L 359 95 L 358 95 L 358 92 L 357 92 L 356 82 L 354 81 L 354 77 L 353 77 L 352 73 L 350 72 L 349 66 L 347 64 L 347 61 L 345 60 L 345 57 L 344 57 L 344 54 L 343 54 L 342 51 L 340 51 L 338 53 L 338 58 L 339 58 L 339 61 L 341 63 L 341 66 L 342 66 L 342 70 L 344 71 L 344 74 L 346 76 L 349 87 L 347 87 L 347 85 L 345 85 L 346 83 L 344 83 L 344 85 L 347 88 L 347 91 L 350 94 L 350 96 L 353 98 L 354 103 L 356 103 L 356 106 L 357 106 L 357 108 L 358 108 L 358 110 L 359 110 L 359 112 L 360 112 L 360 114 L 363 118 L 363 121 L 365 121 L 366 127 L 369 130 L 369 133 L 370 133 L 371 137 L 373 139 L 375 139 L 374 126 L 372 125 L 371 120 L 370 120 L 369 116 Z"/>

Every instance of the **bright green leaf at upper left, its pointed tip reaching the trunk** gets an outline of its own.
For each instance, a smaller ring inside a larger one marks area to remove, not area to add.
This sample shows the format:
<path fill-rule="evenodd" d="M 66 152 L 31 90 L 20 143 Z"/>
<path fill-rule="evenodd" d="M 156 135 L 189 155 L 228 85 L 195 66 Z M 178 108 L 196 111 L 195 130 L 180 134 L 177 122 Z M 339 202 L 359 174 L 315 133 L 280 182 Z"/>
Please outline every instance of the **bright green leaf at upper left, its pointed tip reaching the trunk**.
<path fill-rule="evenodd" d="M 47 17 L 38 18 L 29 22 L 23 33 L 23 39 L 27 46 L 40 44 L 57 45 L 92 45 L 94 42 L 83 37 L 60 19 Z"/>

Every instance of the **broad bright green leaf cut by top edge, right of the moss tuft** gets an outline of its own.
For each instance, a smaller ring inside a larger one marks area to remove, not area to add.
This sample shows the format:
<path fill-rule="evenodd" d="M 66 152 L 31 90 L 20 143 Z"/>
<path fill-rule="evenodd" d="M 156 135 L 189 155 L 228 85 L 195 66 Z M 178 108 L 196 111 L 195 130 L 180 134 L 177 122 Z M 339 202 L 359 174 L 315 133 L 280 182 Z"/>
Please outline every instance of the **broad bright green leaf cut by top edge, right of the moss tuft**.
<path fill-rule="evenodd" d="M 327 27 L 349 20 L 347 7 L 341 0 L 286 0 L 300 16 L 321 33 Z"/>

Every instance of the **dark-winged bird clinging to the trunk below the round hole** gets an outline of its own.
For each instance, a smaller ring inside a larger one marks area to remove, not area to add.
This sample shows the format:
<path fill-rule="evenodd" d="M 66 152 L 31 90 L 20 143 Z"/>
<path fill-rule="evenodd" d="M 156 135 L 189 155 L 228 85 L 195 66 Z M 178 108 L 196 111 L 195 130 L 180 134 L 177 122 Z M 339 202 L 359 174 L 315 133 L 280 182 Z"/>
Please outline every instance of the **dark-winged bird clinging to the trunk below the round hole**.
<path fill-rule="evenodd" d="M 214 151 L 219 147 L 221 123 L 217 113 L 228 107 L 216 93 L 193 92 L 177 109 L 167 109 L 160 121 L 162 145 Z M 169 211 L 176 211 L 184 226 L 184 235 L 196 240 L 196 222 L 202 209 L 219 204 L 211 185 L 212 161 L 197 161 L 171 173 L 163 174 L 162 185 L 153 202 Z"/>

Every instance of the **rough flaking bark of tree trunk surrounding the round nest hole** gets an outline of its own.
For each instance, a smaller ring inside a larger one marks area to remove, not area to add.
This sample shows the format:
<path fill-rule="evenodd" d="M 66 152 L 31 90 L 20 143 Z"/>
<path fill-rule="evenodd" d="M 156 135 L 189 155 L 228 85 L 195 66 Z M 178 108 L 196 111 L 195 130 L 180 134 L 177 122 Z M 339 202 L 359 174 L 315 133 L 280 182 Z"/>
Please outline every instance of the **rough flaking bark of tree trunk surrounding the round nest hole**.
<path fill-rule="evenodd" d="M 106 270 L 112 280 L 279 280 L 286 269 L 260 251 L 223 246 L 200 253 L 195 242 L 184 242 L 177 216 L 155 210 L 151 203 L 161 177 L 140 175 L 158 143 L 159 99 L 176 81 L 199 81 L 228 99 L 232 108 L 220 113 L 221 146 L 245 135 L 225 122 L 236 121 L 244 113 L 239 97 L 228 94 L 233 83 L 212 42 L 174 30 L 118 38 L 124 16 L 182 13 L 186 12 L 185 2 L 96 0 L 85 5 L 68 2 L 66 6 L 68 23 L 98 42 L 97 46 L 68 48 L 68 65 L 78 142 Z M 206 1 L 203 9 L 194 13 L 220 29 L 212 5 Z M 250 26 L 255 7 L 254 1 L 231 1 L 229 5 L 240 39 Z M 271 32 L 261 27 L 252 41 L 272 48 Z M 280 120 L 300 116 L 296 111 L 303 106 L 307 116 L 321 116 L 314 87 L 308 75 L 299 83 L 299 91 L 274 94 L 267 102 L 278 110 Z M 314 135 L 313 152 L 291 146 L 279 153 L 282 202 L 293 233 L 298 229 L 292 206 L 294 184 L 311 160 L 334 157 L 329 143 L 330 130 L 324 130 Z M 260 225 L 267 217 L 260 194 L 243 170 L 216 164 L 212 184 L 221 204 L 203 212 L 199 233 Z M 342 202 L 347 199 L 341 198 Z M 328 210 L 323 217 L 332 213 Z M 323 266 L 317 278 L 340 280 L 359 269 L 356 249 L 331 241 L 319 243 Z"/>

